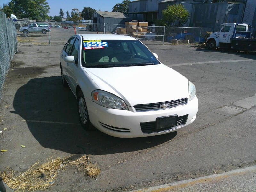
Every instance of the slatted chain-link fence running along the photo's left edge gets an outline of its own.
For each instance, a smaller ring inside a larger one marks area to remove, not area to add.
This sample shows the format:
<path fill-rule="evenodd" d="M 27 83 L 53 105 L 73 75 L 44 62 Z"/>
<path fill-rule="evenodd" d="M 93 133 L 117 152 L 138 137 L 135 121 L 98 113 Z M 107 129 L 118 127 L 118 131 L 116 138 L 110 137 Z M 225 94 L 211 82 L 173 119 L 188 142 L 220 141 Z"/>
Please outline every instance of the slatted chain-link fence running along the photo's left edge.
<path fill-rule="evenodd" d="M 0 11 L 0 99 L 5 76 L 11 66 L 13 55 L 18 51 L 15 24 L 8 21 Z"/>

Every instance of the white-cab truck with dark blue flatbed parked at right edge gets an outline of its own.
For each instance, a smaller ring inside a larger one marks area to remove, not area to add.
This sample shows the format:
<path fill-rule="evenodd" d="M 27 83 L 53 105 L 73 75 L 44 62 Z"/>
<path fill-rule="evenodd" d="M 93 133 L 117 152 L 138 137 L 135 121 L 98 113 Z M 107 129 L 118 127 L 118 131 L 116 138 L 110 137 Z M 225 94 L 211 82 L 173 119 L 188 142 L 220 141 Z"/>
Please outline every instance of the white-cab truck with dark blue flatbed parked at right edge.
<path fill-rule="evenodd" d="M 219 32 L 207 38 L 209 49 L 216 47 L 243 51 L 256 51 L 256 39 L 252 37 L 251 24 L 224 23 Z"/>

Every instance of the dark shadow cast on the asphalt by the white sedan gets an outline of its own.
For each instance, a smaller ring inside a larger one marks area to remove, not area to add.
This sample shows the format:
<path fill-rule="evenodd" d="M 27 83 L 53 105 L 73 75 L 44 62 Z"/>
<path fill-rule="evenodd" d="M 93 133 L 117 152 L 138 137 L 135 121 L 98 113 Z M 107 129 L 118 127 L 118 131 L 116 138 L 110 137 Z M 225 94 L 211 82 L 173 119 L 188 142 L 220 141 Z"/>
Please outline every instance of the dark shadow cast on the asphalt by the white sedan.
<path fill-rule="evenodd" d="M 17 90 L 13 106 L 15 111 L 12 113 L 27 121 L 30 132 L 40 145 L 68 153 L 137 151 L 162 144 L 177 134 L 124 139 L 106 135 L 97 129 L 85 131 L 79 123 L 76 98 L 69 88 L 61 85 L 61 77 L 56 76 L 28 81 Z"/>

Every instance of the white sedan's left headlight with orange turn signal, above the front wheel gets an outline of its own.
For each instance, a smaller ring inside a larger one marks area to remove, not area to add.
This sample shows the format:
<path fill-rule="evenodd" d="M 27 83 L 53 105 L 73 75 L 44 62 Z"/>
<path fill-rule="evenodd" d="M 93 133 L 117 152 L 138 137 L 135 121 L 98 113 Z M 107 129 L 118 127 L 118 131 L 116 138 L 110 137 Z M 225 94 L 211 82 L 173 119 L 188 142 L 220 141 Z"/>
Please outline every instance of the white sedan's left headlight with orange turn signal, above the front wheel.
<path fill-rule="evenodd" d="M 92 100 L 95 103 L 98 103 L 99 105 L 104 107 L 129 110 L 124 100 L 106 91 L 102 91 L 102 90 L 93 91 Z"/>

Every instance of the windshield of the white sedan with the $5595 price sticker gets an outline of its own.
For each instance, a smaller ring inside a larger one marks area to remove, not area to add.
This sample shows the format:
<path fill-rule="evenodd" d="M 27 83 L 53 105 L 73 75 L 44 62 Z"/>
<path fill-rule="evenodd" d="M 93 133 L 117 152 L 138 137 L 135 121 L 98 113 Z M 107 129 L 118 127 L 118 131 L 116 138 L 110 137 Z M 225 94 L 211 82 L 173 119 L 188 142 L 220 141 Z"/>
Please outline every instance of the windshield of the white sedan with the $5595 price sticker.
<path fill-rule="evenodd" d="M 156 65 L 159 61 L 138 40 L 84 40 L 83 67 Z"/>

